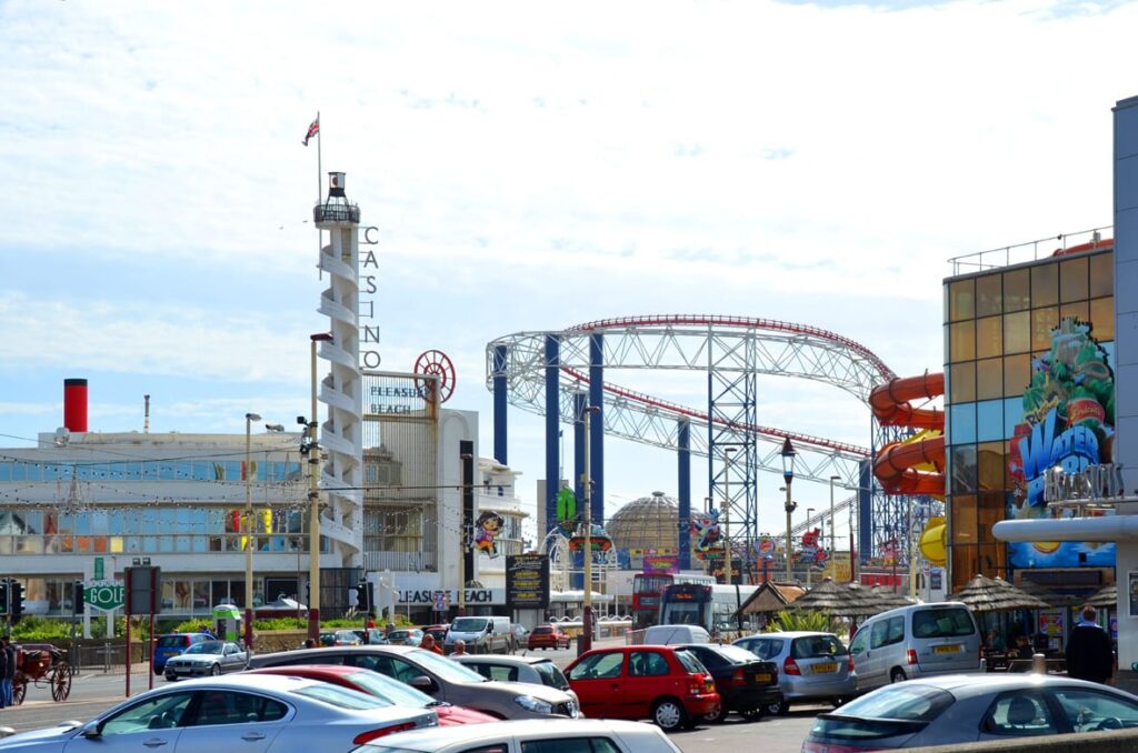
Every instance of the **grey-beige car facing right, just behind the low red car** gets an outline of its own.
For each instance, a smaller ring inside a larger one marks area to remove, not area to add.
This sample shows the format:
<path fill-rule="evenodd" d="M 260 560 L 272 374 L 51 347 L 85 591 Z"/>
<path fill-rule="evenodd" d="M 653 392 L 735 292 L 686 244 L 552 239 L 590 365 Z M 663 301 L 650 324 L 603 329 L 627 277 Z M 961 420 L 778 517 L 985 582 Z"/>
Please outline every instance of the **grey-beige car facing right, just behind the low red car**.
<path fill-rule="evenodd" d="M 406 682 L 436 701 L 475 709 L 498 719 L 579 715 L 577 702 L 554 688 L 497 682 L 436 653 L 413 646 L 308 648 L 254 656 L 254 668 L 291 664 L 347 664 Z"/>

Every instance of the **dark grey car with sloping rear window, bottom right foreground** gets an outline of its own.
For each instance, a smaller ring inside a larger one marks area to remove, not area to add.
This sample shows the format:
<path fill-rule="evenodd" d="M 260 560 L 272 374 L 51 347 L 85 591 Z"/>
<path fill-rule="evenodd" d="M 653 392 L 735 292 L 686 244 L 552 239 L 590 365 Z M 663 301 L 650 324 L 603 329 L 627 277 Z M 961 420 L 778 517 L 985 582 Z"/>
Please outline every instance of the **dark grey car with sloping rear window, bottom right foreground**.
<path fill-rule="evenodd" d="M 942 675 L 877 688 L 818 715 L 802 753 L 1138 728 L 1138 696 L 1057 675 Z"/>

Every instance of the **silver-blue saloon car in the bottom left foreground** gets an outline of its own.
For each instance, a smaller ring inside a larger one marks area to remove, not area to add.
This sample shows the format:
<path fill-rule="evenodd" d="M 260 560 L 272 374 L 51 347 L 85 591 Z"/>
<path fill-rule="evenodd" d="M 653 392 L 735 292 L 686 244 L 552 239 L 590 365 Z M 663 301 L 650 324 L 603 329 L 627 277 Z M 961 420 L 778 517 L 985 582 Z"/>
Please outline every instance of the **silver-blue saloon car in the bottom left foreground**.
<path fill-rule="evenodd" d="M 251 752 L 273 750 L 277 743 L 277 750 L 347 751 L 395 731 L 437 723 L 434 711 L 391 705 L 319 680 L 233 675 L 163 686 L 85 725 L 6 737 L 0 750 Z"/>

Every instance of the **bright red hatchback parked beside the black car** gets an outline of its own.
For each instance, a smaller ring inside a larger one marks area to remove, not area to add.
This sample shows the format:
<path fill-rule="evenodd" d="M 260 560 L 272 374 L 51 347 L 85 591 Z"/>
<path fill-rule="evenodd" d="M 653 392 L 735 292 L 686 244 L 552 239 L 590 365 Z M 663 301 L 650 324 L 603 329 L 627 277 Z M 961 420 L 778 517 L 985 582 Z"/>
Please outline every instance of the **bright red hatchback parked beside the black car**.
<path fill-rule="evenodd" d="M 566 668 L 586 717 L 651 719 L 671 731 L 719 708 L 715 680 L 695 656 L 671 646 L 594 648 Z"/>

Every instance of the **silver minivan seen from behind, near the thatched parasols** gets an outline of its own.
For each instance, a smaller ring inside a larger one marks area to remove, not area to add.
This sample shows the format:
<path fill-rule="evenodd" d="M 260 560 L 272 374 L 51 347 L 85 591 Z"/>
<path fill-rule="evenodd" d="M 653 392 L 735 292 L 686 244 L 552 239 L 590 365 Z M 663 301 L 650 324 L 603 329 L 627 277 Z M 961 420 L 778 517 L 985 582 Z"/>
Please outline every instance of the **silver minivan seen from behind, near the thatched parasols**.
<path fill-rule="evenodd" d="M 850 642 L 858 693 L 915 677 L 982 671 L 980 653 L 976 619 L 960 602 L 882 612 Z"/>

